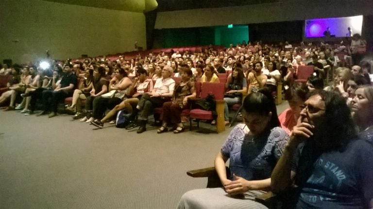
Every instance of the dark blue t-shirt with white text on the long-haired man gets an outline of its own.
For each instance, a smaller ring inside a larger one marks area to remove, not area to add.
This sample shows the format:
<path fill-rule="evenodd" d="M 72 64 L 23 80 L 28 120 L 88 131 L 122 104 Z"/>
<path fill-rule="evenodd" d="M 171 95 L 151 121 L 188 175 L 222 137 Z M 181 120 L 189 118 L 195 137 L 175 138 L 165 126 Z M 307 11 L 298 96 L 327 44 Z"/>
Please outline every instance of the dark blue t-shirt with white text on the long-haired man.
<path fill-rule="evenodd" d="M 298 146 L 292 161 L 296 208 L 363 209 L 373 198 L 373 145 L 354 140 L 343 151 L 317 154 Z"/>

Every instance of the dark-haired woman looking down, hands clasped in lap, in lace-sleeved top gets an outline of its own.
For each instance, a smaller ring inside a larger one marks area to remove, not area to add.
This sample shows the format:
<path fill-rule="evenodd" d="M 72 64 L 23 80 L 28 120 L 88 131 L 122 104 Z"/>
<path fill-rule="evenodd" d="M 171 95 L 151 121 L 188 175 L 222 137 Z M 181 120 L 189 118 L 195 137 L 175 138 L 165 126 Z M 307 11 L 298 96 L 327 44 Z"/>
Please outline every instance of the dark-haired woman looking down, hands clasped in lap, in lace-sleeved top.
<path fill-rule="evenodd" d="M 264 193 L 270 188 L 271 172 L 283 153 L 288 134 L 280 128 L 273 96 L 266 89 L 245 97 L 242 116 L 245 123 L 230 132 L 215 158 L 215 170 L 223 187 L 189 191 L 182 196 L 179 209 L 266 208 L 250 200 L 248 192 Z M 231 176 L 225 169 L 228 159 Z"/>

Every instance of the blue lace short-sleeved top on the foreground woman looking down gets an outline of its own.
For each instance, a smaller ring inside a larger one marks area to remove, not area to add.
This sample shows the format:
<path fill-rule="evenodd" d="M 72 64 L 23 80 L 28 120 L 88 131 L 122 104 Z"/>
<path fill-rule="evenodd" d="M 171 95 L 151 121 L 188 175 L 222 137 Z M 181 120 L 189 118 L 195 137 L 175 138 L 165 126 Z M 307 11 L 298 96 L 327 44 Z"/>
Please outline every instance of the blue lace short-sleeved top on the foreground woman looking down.
<path fill-rule="evenodd" d="M 230 159 L 230 179 L 233 174 L 246 180 L 269 178 L 289 136 L 280 127 L 261 136 L 253 137 L 248 133 L 249 129 L 245 124 L 238 124 L 221 147 L 221 154 Z"/>

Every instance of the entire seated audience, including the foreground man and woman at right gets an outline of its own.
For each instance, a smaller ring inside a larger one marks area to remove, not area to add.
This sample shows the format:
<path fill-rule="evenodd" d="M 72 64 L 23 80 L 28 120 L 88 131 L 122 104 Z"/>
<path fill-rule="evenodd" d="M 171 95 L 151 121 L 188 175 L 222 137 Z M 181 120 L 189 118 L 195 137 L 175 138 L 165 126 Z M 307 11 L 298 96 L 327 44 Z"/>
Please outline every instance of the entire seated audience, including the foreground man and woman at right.
<path fill-rule="evenodd" d="M 54 117 L 58 103 L 72 96 L 67 109 L 75 114 L 74 119 L 103 128 L 105 122 L 114 123 L 116 114 L 125 110 L 131 121 L 126 129 L 138 127 L 137 133 L 146 131 L 149 115 L 161 108 L 161 126 L 156 132 L 166 132 L 173 126 L 174 133 L 181 133 L 185 130 L 181 112 L 197 96 L 196 82 L 224 82 L 225 123 L 229 123 L 229 107 L 242 103 L 244 124 L 231 131 L 215 160 L 223 188 L 188 192 L 179 208 L 219 208 L 217 204 L 222 208 L 232 204 L 262 207 L 246 201 L 242 194 L 252 190 L 281 192 L 291 187 L 293 180 L 299 192 L 292 203 L 296 207 L 373 207 L 371 67 L 367 63 L 343 66 L 334 54 L 340 46 L 293 46 L 249 42 L 220 51 L 208 48 L 195 53 L 150 53 L 131 60 L 122 56 L 117 60 L 68 60 L 52 63 L 49 70 L 4 65 L 0 73 L 11 76 L 0 104 L 10 100 L 6 111 L 16 109 L 30 115 L 39 101 L 41 112 L 37 115 L 49 113 Z M 305 83 L 297 83 L 303 65 L 313 65 L 314 71 Z M 271 93 L 278 91 L 279 83 L 286 84 L 282 90 L 289 109 L 277 117 Z M 23 101 L 16 106 L 17 95 Z M 348 161 L 342 160 L 343 155 L 349 156 Z M 230 177 L 224 168 L 228 159 Z M 364 163 L 356 169 L 351 167 L 359 161 Z M 312 163 L 314 170 L 304 166 Z M 329 165 L 333 163 L 344 169 L 334 173 L 344 173 L 347 180 L 335 185 L 328 174 L 324 178 L 332 188 L 326 190 L 316 178 L 321 179 L 320 173 L 332 169 Z M 309 176 L 299 175 L 303 173 Z M 331 197 L 330 192 L 336 195 Z M 346 195 L 351 198 L 342 198 Z"/>

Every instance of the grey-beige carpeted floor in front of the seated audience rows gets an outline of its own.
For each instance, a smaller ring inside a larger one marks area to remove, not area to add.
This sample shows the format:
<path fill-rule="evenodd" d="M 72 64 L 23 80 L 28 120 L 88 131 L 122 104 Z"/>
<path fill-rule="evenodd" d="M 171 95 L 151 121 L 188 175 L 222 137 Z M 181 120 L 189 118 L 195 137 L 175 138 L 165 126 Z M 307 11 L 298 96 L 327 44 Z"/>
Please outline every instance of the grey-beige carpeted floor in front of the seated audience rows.
<path fill-rule="evenodd" d="M 213 166 L 231 130 L 137 134 L 70 118 L 0 110 L 0 208 L 175 208 L 183 193 L 206 186 L 186 171 Z"/>

